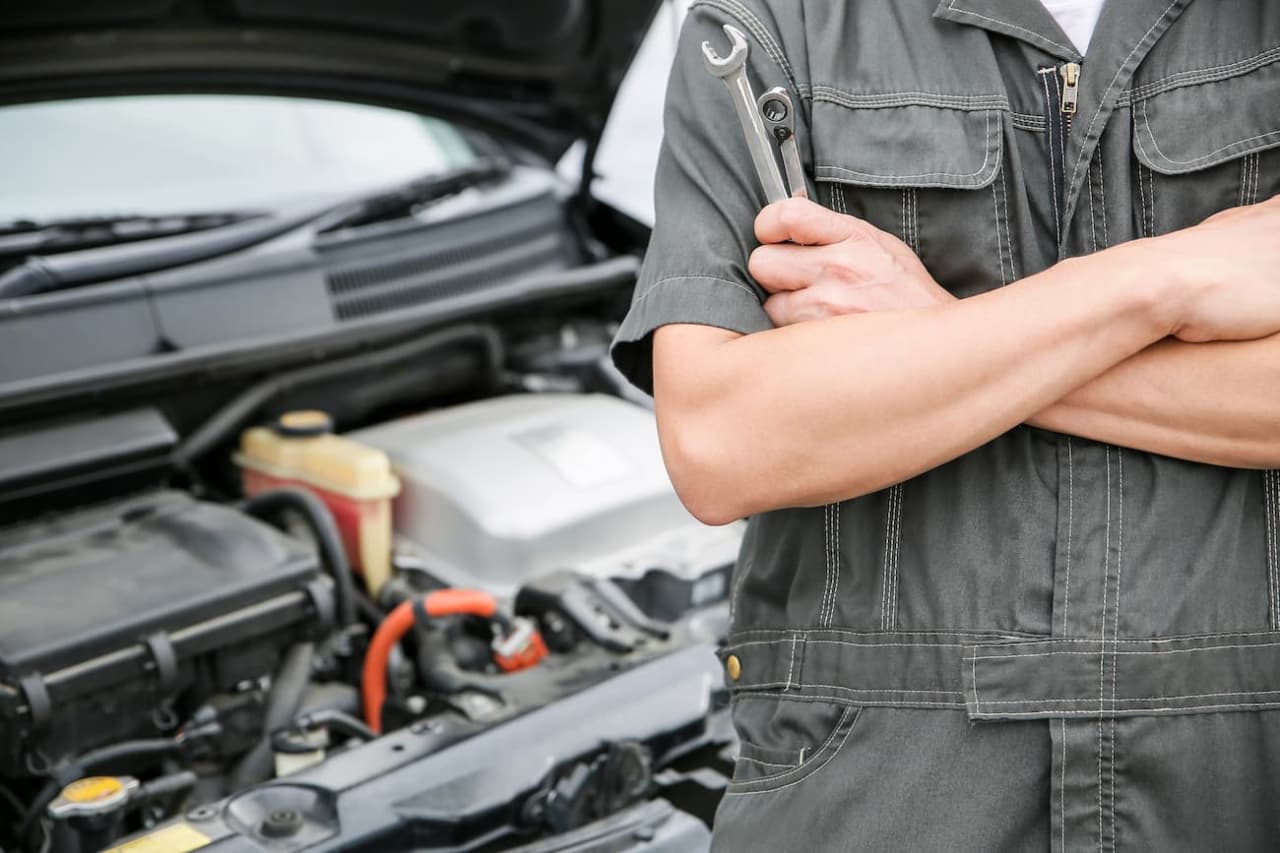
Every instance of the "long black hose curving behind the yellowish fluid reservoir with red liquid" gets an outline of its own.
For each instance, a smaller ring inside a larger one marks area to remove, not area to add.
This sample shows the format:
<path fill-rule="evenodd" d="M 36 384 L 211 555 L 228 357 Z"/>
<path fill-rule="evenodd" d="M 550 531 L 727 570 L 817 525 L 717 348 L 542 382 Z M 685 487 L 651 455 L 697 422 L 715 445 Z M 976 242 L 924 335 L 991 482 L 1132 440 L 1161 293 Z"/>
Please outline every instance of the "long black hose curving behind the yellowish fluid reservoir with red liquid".
<path fill-rule="evenodd" d="M 489 371 L 489 382 L 492 384 L 497 384 L 504 360 L 502 336 L 498 334 L 498 330 L 492 325 L 483 324 L 467 324 L 442 329 L 385 350 L 362 352 L 343 359 L 335 359 L 333 361 L 325 361 L 323 364 L 278 373 L 270 379 L 265 379 L 264 382 L 246 389 L 238 397 L 214 412 L 214 415 L 201 424 L 198 429 L 191 433 L 186 441 L 182 442 L 182 444 L 174 448 L 172 460 L 178 467 L 189 469 L 192 462 L 198 460 L 201 456 L 225 441 L 228 435 L 243 426 L 264 405 L 266 405 L 268 401 L 283 394 L 287 391 L 293 391 L 303 386 L 311 386 L 332 379 L 339 379 L 352 373 L 385 370 L 387 368 L 402 361 L 420 359 L 433 350 L 465 343 L 477 343 L 481 346 Z"/>

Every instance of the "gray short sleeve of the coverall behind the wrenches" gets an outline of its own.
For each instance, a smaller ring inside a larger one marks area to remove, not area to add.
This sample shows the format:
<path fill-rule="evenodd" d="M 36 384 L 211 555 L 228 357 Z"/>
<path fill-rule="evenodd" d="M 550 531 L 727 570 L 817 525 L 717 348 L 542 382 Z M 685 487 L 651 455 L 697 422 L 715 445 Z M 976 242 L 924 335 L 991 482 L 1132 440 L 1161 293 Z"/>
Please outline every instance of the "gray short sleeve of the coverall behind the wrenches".
<path fill-rule="evenodd" d="M 648 393 L 653 393 L 653 333 L 659 327 L 696 323 L 750 334 L 773 325 L 762 306 L 763 292 L 746 273 L 764 190 L 728 88 L 707 70 L 701 53 L 703 41 L 728 53 L 726 23 L 748 33 L 748 73 L 755 92 L 787 85 L 750 28 L 707 5 L 690 10 L 663 110 L 653 236 L 612 347 L 617 368 Z M 792 99 L 799 105 L 795 92 Z"/>

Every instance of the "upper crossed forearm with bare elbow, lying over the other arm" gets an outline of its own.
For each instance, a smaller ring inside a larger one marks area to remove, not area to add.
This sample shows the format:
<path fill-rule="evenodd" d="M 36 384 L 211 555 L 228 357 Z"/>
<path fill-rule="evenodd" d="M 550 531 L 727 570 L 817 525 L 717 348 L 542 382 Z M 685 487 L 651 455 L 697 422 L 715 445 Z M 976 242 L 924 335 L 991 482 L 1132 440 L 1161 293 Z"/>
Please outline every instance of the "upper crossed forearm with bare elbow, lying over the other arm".
<path fill-rule="evenodd" d="M 696 359 L 681 357 L 696 327 L 663 328 L 672 479 L 695 514 L 724 521 L 914 476 L 1169 334 L 1164 287 L 1120 247 L 947 305 L 723 333 Z"/>

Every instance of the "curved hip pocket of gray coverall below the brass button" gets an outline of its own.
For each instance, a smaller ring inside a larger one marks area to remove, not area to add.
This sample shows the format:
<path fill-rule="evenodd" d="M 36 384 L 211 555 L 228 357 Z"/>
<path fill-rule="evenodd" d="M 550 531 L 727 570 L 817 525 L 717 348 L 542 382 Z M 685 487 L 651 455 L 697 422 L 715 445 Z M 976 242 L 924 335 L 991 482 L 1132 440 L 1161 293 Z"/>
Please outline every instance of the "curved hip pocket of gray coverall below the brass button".
<path fill-rule="evenodd" d="M 733 699 L 739 752 L 731 793 L 794 785 L 836 757 L 861 708 L 827 699 L 742 693 Z"/>

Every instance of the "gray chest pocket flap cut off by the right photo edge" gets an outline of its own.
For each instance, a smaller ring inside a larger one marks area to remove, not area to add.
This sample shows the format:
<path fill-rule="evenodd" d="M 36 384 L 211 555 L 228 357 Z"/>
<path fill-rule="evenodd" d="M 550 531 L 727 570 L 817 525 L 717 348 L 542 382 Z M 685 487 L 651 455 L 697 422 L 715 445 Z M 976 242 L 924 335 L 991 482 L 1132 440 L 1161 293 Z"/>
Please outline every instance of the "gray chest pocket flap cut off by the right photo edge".
<path fill-rule="evenodd" d="M 1187 174 L 1280 145 L 1280 63 L 1202 79 L 1188 72 L 1134 92 L 1133 150 L 1148 169 Z"/>

